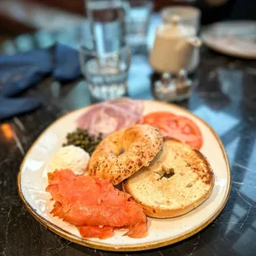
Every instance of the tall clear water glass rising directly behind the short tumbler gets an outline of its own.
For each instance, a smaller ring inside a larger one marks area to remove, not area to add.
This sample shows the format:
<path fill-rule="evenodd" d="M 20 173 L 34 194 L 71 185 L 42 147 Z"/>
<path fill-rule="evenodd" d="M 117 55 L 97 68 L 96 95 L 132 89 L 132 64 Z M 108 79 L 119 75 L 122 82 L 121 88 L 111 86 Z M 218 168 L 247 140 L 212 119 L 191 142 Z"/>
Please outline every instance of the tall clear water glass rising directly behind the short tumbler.
<path fill-rule="evenodd" d="M 85 0 L 94 50 L 107 53 L 125 44 L 125 10 L 121 0 Z"/>

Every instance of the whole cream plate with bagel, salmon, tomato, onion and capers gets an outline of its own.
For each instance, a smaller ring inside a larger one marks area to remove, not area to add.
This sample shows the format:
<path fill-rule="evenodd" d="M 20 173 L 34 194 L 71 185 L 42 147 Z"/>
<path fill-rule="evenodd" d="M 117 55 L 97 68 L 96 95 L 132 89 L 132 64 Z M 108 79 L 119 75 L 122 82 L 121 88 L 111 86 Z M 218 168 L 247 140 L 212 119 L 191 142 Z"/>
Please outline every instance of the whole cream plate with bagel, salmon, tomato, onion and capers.
<path fill-rule="evenodd" d="M 18 174 L 26 209 L 77 244 L 138 251 L 196 234 L 230 194 L 216 132 L 192 112 L 121 98 L 60 117 Z"/>

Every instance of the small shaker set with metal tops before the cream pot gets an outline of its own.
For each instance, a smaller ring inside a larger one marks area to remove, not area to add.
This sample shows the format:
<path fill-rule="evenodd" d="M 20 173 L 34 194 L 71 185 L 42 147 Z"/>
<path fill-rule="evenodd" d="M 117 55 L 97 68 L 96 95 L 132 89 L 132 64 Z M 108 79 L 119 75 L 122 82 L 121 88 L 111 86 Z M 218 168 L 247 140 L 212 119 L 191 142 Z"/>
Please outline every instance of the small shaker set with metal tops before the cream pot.
<path fill-rule="evenodd" d="M 164 102 L 180 102 L 191 96 L 192 80 L 187 78 L 187 71 L 181 69 L 177 78 L 163 73 L 161 80 L 154 83 L 154 95 Z"/>

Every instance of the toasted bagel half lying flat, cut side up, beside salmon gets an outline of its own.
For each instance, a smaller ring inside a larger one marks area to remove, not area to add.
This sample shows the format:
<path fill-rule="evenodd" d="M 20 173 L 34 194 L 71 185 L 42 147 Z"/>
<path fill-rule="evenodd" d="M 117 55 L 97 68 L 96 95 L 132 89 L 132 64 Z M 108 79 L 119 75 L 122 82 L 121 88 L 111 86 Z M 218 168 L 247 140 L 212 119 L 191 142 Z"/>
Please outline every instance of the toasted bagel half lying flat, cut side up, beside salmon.
<path fill-rule="evenodd" d="M 122 187 L 147 216 L 169 218 L 205 201 L 214 187 L 214 174 L 197 149 L 168 138 L 149 167 L 127 178 Z"/>

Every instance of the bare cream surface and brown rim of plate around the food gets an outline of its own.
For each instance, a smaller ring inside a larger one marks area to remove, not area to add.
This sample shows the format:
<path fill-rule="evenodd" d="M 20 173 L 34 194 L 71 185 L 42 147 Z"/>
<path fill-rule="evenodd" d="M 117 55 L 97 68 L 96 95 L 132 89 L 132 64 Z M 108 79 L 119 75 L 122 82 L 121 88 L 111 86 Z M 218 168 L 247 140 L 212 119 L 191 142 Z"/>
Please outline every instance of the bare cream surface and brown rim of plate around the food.
<path fill-rule="evenodd" d="M 144 104 L 145 114 L 152 111 L 172 111 L 197 123 L 204 140 L 201 152 L 209 160 L 216 178 L 211 196 L 201 206 L 184 216 L 164 220 L 149 218 L 149 235 L 145 238 L 132 239 L 122 236 L 124 231 L 118 230 L 110 239 L 82 239 L 75 226 L 50 215 L 50 193 L 45 192 L 47 181 L 43 173 L 53 154 L 64 142 L 65 135 L 76 128 L 75 121 L 88 109 L 85 107 L 59 118 L 46 129 L 31 146 L 21 164 L 18 175 L 19 194 L 27 210 L 36 220 L 74 243 L 95 249 L 132 251 L 178 242 L 196 234 L 219 215 L 230 193 L 230 166 L 219 137 L 204 121 L 181 107 L 154 101 L 144 101 Z"/>

